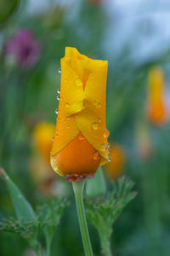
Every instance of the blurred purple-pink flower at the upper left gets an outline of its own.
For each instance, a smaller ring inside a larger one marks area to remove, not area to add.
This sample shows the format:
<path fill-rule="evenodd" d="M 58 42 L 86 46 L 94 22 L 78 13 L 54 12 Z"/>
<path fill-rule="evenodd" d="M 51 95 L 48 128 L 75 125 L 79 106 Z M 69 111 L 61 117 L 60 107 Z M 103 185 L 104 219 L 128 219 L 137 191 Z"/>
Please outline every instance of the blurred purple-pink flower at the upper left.
<path fill-rule="evenodd" d="M 41 54 L 41 44 L 34 33 L 28 29 L 20 29 L 5 45 L 5 53 L 21 67 L 32 67 Z"/>

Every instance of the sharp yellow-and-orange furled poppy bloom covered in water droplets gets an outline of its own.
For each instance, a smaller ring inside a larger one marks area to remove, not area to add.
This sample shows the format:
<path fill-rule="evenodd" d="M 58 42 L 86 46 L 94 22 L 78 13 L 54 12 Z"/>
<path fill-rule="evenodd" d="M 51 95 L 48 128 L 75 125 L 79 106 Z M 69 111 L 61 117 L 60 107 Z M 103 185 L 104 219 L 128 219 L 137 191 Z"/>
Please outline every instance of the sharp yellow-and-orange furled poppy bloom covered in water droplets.
<path fill-rule="evenodd" d="M 51 165 L 68 181 L 93 177 L 108 161 L 105 127 L 107 61 L 66 47 L 61 59 L 59 114 Z"/>

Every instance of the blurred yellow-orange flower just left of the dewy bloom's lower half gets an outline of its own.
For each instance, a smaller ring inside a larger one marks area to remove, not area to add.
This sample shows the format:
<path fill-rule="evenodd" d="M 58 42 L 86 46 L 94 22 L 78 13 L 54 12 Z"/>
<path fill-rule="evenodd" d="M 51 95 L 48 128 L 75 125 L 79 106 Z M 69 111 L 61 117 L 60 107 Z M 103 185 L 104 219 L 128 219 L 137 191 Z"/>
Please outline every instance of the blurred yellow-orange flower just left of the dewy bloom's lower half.
<path fill-rule="evenodd" d="M 50 149 L 54 136 L 54 125 L 48 122 L 38 123 L 33 131 L 35 154 L 30 160 L 30 173 L 42 194 L 52 193 L 54 172 L 50 166 Z"/>

